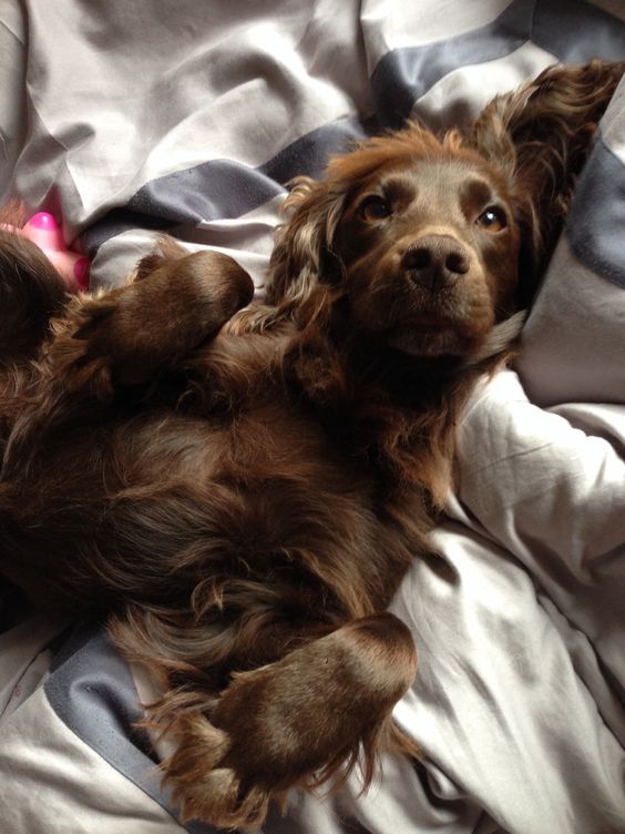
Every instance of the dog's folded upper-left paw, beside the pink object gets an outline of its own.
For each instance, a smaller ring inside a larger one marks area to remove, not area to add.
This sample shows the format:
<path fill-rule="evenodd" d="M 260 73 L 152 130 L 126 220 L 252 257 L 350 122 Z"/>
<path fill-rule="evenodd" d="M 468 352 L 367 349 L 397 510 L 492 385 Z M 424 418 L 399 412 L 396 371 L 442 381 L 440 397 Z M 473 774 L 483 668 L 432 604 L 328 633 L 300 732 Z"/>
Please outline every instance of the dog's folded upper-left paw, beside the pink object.
<path fill-rule="evenodd" d="M 204 342 L 254 295 L 249 275 L 217 252 L 151 261 L 127 286 L 76 299 L 51 346 L 68 390 L 86 385 L 101 395 L 137 385 Z"/>

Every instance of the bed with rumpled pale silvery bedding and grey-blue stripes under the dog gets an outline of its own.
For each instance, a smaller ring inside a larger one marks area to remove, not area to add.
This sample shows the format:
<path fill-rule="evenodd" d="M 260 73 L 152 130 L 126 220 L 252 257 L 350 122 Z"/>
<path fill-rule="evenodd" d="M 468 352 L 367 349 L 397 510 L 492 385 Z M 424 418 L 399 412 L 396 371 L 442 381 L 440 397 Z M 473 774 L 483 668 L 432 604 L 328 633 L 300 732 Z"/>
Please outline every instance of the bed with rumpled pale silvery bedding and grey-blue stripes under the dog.
<path fill-rule="evenodd" d="M 285 185 L 416 118 L 462 123 L 554 62 L 625 59 L 618 0 L 4 0 L 0 191 L 62 217 L 91 287 L 168 232 L 263 293 Z M 475 390 L 457 488 L 392 609 L 418 763 L 294 793 L 263 834 L 625 832 L 625 82 L 514 367 Z M 443 567 L 441 567 L 441 565 Z M 135 726 L 153 684 L 0 583 L 1 834 L 207 834 Z"/>

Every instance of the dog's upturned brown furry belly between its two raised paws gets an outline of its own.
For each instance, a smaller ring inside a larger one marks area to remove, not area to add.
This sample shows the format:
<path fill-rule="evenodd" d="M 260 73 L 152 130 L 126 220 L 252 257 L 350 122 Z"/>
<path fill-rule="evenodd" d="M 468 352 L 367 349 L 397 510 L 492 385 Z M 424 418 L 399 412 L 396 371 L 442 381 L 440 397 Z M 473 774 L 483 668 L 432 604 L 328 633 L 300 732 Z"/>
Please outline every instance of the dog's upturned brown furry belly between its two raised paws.
<path fill-rule="evenodd" d="M 0 569 L 72 610 L 204 592 L 227 608 L 256 584 L 340 621 L 383 608 L 410 559 L 380 510 L 367 470 L 283 403 L 150 413 L 50 440 L 3 487 Z"/>

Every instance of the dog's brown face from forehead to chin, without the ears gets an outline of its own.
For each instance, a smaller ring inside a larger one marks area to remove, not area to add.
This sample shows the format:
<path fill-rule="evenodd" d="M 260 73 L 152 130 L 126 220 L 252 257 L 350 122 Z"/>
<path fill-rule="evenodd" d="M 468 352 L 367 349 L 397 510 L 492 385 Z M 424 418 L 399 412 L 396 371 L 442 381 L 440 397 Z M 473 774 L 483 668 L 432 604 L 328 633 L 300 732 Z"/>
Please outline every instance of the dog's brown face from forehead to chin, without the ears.
<path fill-rule="evenodd" d="M 505 182 L 464 153 L 373 171 L 331 243 L 356 326 L 406 353 L 465 354 L 513 312 L 520 234 Z"/>

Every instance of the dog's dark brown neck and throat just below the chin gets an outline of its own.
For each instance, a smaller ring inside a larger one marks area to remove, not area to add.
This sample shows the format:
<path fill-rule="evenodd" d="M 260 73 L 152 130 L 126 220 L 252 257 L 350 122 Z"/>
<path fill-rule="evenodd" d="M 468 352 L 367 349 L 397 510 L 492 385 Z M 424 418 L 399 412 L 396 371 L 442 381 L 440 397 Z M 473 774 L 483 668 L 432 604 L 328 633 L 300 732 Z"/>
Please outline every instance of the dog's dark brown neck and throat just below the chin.
<path fill-rule="evenodd" d="M 503 362 L 524 315 L 495 325 L 467 356 L 429 357 L 355 330 L 344 304 L 338 313 L 309 327 L 300 319 L 286 353 L 289 387 L 381 484 L 424 488 L 442 506 L 464 404 L 478 378 Z"/>

